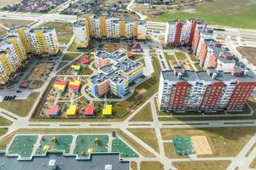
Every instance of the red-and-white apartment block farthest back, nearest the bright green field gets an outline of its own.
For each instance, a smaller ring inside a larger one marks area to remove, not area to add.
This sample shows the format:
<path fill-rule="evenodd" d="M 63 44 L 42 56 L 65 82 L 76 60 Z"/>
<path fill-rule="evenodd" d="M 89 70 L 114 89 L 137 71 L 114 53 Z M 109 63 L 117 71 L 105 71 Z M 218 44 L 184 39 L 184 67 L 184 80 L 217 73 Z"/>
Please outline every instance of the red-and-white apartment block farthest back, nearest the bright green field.
<path fill-rule="evenodd" d="M 193 42 L 195 31 L 206 27 L 204 20 L 172 20 L 166 24 L 165 45 L 181 46 Z"/>

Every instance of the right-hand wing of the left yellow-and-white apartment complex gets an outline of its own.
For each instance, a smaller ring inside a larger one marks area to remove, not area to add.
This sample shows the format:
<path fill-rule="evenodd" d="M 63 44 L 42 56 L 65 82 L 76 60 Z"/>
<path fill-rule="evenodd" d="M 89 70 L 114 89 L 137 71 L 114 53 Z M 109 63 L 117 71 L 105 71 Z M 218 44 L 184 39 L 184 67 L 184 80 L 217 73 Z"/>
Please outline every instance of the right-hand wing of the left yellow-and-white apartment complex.
<path fill-rule="evenodd" d="M 60 51 L 55 28 L 31 29 L 28 31 L 28 42 L 34 55 L 49 56 L 58 54 Z"/>

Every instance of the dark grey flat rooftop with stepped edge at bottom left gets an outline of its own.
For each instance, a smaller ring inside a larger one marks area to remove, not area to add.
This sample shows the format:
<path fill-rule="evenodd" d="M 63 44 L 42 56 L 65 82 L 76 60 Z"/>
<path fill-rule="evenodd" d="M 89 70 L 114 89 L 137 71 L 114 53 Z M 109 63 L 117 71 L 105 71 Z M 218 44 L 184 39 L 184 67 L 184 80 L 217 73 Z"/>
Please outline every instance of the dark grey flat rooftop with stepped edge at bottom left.
<path fill-rule="evenodd" d="M 98 170 L 111 165 L 112 169 L 129 170 L 129 161 L 121 161 L 118 153 L 92 153 L 87 160 L 77 160 L 75 156 L 62 156 L 62 153 L 48 153 L 46 156 L 33 156 L 32 160 L 20 161 L 15 156 L 0 154 L 1 170 Z"/>

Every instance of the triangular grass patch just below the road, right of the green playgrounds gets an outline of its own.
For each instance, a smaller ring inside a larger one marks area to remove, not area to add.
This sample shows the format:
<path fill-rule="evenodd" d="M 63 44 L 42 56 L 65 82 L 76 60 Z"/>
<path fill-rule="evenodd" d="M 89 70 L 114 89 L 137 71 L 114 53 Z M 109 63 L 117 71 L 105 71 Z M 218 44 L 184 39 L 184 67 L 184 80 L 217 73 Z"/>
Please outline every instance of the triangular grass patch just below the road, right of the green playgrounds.
<path fill-rule="evenodd" d="M 151 146 L 155 151 L 159 152 L 154 128 L 128 128 L 127 130 L 136 135 L 137 138 L 142 139 L 143 142 Z"/>

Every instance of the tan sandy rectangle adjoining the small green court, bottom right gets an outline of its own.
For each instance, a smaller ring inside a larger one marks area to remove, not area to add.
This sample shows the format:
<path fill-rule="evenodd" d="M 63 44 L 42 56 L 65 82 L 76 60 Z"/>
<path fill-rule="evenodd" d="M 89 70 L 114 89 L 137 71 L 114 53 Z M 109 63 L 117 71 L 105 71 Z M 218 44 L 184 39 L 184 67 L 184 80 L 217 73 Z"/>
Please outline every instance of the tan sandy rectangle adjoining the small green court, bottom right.
<path fill-rule="evenodd" d="M 197 155 L 212 155 L 212 149 L 206 136 L 192 136 L 191 141 Z"/>

